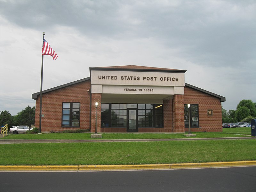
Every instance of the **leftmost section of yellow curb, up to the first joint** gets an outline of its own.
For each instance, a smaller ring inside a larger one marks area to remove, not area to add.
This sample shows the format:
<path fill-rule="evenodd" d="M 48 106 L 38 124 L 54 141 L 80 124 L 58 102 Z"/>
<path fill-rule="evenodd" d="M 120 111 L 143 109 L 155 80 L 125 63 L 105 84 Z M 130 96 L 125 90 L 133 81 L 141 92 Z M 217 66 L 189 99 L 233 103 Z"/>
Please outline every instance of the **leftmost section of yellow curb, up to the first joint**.
<path fill-rule="evenodd" d="M 78 171 L 78 165 L 0 165 L 0 171 Z"/>

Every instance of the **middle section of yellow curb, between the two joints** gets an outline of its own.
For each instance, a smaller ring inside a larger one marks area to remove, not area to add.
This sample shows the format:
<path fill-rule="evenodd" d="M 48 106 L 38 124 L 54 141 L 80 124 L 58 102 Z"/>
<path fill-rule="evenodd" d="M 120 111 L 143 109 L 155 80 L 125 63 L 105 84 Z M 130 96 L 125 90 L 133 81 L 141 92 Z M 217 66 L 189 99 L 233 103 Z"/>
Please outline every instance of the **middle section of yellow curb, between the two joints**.
<path fill-rule="evenodd" d="M 93 170 L 139 170 L 139 169 L 170 169 L 170 164 L 145 165 L 79 165 L 79 171 Z"/>

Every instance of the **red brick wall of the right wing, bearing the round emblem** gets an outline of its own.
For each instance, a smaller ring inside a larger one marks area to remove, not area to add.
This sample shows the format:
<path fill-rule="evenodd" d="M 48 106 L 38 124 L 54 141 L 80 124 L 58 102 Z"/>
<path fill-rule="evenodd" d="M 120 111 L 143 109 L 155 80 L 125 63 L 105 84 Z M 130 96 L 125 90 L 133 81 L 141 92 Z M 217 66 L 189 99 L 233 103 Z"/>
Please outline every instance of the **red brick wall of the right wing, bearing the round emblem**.
<path fill-rule="evenodd" d="M 198 104 L 199 126 L 201 128 L 191 128 L 191 132 L 222 132 L 220 99 L 186 86 L 184 91 L 184 104 Z M 207 115 L 208 109 L 213 110 L 212 116 Z M 185 131 L 188 131 L 188 128 L 185 128 Z"/>

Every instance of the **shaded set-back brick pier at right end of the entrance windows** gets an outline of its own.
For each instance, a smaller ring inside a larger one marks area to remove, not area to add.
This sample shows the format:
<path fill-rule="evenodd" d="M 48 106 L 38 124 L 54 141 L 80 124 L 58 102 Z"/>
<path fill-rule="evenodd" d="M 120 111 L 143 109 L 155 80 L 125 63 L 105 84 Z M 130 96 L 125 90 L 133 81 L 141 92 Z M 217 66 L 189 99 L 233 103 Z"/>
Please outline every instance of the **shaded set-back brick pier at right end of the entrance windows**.
<path fill-rule="evenodd" d="M 172 100 L 163 100 L 164 132 L 173 132 L 172 127 Z"/>

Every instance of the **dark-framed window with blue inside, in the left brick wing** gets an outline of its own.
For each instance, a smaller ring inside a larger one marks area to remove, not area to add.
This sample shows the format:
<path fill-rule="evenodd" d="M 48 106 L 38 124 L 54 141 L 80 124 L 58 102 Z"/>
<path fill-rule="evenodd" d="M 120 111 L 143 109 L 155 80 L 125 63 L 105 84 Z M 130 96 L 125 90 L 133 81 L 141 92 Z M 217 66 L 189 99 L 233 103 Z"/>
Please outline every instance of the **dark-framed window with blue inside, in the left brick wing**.
<path fill-rule="evenodd" d="M 80 103 L 62 103 L 62 126 L 80 126 Z"/>

